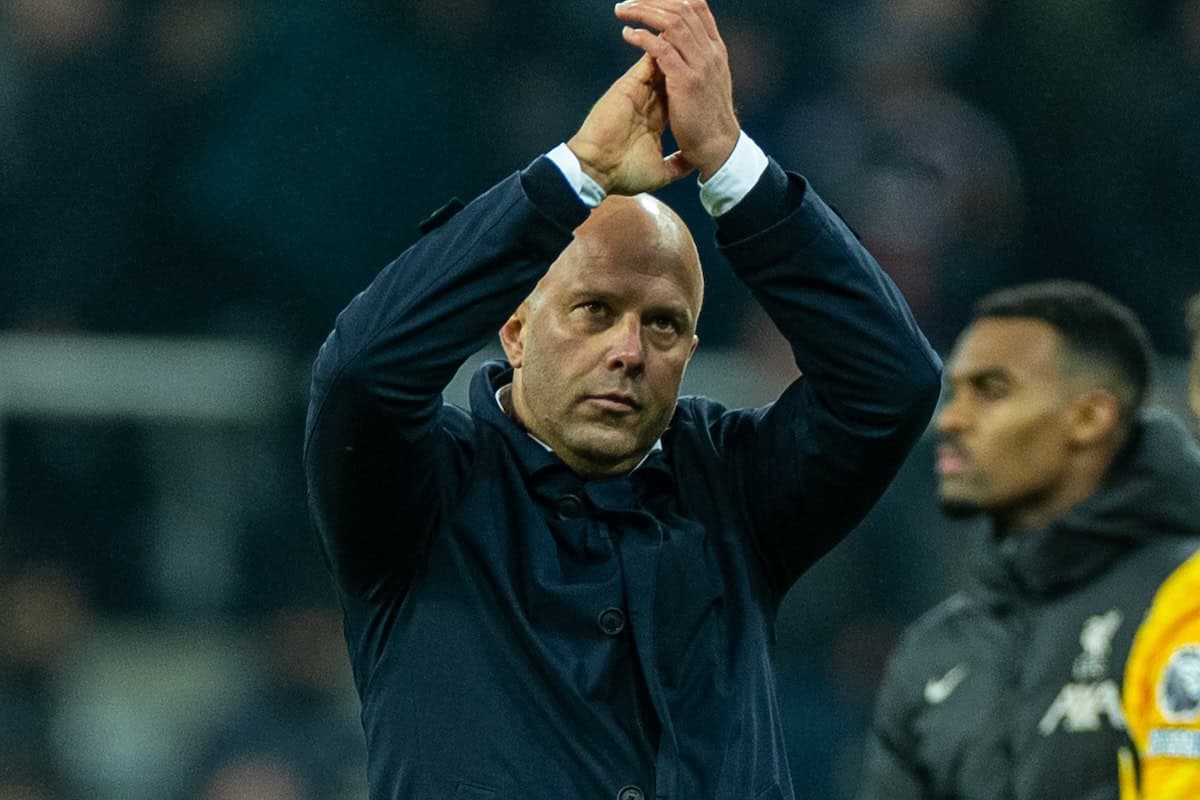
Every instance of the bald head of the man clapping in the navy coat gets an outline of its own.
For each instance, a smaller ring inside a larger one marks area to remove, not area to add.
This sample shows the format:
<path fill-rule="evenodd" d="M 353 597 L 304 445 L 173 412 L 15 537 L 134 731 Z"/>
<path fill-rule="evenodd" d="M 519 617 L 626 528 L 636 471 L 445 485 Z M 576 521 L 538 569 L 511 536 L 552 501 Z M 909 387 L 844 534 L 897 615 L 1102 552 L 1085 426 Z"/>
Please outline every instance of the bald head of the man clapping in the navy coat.
<path fill-rule="evenodd" d="M 674 211 L 605 199 L 500 329 L 517 419 L 582 476 L 636 467 L 674 414 L 703 294 Z"/>

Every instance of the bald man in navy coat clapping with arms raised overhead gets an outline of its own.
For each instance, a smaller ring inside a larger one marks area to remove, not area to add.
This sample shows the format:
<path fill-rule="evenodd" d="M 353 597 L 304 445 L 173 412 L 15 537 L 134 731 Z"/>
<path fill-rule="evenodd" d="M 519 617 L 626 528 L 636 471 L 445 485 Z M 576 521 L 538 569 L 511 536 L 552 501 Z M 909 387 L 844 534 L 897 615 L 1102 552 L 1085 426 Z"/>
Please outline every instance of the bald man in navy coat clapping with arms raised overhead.
<path fill-rule="evenodd" d="M 373 800 L 793 798 L 776 609 L 937 398 L 893 283 L 742 133 L 704 4 L 617 16 L 641 60 L 566 143 L 437 215 L 313 368 L 310 505 Z M 691 173 L 804 373 L 766 408 L 678 397 L 703 275 L 646 192 Z M 506 360 L 443 404 L 497 329 Z"/>

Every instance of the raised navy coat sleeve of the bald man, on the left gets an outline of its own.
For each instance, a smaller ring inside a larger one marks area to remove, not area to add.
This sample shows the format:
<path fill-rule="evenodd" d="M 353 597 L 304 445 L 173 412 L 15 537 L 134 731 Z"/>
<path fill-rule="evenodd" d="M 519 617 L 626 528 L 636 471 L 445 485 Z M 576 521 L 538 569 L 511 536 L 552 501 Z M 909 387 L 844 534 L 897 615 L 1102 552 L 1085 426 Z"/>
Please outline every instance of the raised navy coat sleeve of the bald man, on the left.
<path fill-rule="evenodd" d="M 338 314 L 312 371 L 308 507 L 343 591 L 403 590 L 456 497 L 469 422 L 442 403 L 587 217 L 539 158 L 388 265 Z"/>

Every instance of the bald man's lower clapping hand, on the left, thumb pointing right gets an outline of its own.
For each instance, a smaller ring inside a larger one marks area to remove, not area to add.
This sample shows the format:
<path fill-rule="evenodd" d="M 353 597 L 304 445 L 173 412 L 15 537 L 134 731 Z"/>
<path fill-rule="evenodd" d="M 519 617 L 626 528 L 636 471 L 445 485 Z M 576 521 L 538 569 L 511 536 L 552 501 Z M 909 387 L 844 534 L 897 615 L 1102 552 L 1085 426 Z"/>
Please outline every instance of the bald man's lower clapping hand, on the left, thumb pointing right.
<path fill-rule="evenodd" d="M 662 156 L 665 90 L 662 73 L 643 55 L 596 101 L 566 142 L 583 172 L 605 192 L 653 192 L 694 169 L 679 154 Z"/>

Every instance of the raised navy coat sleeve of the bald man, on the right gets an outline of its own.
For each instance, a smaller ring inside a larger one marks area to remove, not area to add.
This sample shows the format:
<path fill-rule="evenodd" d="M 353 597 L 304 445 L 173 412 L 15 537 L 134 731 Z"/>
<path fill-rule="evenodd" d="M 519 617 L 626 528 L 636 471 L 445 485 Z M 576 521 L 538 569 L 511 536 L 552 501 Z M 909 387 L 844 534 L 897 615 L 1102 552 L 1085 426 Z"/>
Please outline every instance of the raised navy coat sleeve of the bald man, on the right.
<path fill-rule="evenodd" d="M 718 241 L 803 373 L 725 432 L 782 595 L 887 488 L 937 403 L 941 361 L 853 231 L 774 162 L 718 218 Z"/>

